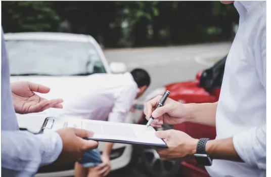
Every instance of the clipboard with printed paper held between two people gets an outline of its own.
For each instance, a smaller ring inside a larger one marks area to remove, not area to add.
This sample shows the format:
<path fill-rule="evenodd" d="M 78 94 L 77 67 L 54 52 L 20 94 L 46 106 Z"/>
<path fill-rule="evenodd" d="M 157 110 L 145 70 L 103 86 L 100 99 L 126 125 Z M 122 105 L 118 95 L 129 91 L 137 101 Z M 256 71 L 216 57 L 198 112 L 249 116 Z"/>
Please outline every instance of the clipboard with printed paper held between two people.
<path fill-rule="evenodd" d="M 151 126 L 147 128 L 146 125 L 45 115 L 21 115 L 17 116 L 17 119 L 21 129 L 27 129 L 34 134 L 75 127 L 93 131 L 93 137 L 85 138 L 88 140 L 167 147 L 162 139 L 155 136 L 156 130 Z"/>

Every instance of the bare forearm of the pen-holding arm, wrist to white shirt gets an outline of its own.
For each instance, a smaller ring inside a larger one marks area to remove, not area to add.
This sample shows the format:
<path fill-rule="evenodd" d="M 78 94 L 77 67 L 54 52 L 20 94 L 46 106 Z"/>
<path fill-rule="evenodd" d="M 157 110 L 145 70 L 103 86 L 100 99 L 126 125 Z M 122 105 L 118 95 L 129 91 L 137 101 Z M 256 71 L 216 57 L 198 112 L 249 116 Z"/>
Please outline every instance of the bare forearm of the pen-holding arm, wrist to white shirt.
<path fill-rule="evenodd" d="M 187 109 L 189 111 L 188 115 L 190 115 L 187 118 L 187 121 L 192 123 L 215 126 L 216 108 L 217 102 L 187 104 Z"/>

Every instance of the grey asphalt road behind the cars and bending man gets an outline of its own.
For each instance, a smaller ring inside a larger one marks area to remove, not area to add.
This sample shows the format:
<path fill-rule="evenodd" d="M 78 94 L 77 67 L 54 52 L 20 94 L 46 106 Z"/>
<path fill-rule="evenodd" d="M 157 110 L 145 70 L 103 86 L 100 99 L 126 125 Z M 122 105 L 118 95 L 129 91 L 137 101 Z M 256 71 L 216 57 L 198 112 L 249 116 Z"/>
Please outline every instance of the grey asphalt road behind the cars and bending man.
<path fill-rule="evenodd" d="M 230 42 L 204 43 L 189 46 L 154 47 L 105 50 L 109 62 L 123 62 L 130 71 L 144 68 L 151 75 L 151 85 L 141 100 L 153 89 L 167 83 L 194 79 L 196 73 L 211 67 L 215 61 L 227 55 Z M 149 177 L 138 166 L 119 169 L 109 177 Z"/>

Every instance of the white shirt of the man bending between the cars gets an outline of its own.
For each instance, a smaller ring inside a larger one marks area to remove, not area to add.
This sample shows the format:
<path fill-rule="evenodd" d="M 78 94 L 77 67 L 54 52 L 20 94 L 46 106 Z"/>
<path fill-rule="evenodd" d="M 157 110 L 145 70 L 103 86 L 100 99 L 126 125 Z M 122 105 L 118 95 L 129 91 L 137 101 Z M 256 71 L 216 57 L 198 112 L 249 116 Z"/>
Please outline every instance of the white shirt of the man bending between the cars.
<path fill-rule="evenodd" d="M 139 91 L 129 72 L 93 74 L 76 84 L 77 91 L 70 89 L 67 93 L 74 96 L 63 97 L 61 116 L 115 122 L 125 121 Z"/>

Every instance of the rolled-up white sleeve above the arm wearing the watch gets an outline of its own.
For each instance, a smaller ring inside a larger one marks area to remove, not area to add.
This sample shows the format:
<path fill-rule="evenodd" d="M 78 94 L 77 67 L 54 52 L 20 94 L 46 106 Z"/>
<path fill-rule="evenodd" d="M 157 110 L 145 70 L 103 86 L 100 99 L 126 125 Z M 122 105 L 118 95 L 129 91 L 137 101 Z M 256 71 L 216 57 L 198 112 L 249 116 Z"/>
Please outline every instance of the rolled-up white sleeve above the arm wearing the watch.
<path fill-rule="evenodd" d="M 233 143 L 244 162 L 266 170 L 266 124 L 235 135 Z"/>

